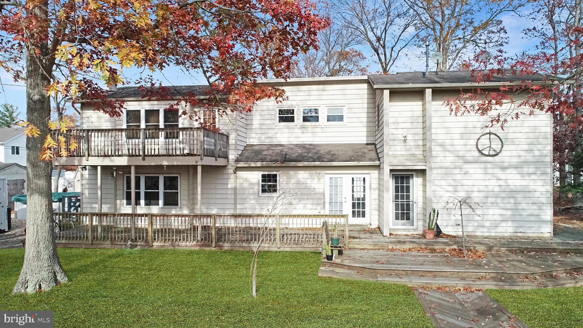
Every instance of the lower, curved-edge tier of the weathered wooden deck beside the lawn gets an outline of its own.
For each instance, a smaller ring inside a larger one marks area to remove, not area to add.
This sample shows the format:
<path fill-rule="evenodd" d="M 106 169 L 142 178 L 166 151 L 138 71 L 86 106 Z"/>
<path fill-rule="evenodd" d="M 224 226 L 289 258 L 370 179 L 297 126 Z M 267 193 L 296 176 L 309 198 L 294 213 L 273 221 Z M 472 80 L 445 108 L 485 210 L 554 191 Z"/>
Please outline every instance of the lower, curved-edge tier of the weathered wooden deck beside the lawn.
<path fill-rule="evenodd" d="M 349 249 L 334 261 L 322 261 L 318 275 L 414 286 L 570 287 L 583 285 L 583 255 L 488 252 L 485 259 L 461 259 L 448 253 Z"/>

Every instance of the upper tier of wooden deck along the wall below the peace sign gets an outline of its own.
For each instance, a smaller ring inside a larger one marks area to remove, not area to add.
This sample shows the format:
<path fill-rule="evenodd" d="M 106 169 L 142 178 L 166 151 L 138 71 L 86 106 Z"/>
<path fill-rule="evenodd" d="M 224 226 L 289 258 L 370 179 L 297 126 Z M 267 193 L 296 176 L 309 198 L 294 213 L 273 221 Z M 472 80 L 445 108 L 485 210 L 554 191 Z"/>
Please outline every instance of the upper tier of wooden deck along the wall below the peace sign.
<path fill-rule="evenodd" d="M 424 239 L 422 235 L 382 236 L 378 229 L 349 227 L 351 248 L 406 249 L 410 247 L 461 248 L 461 237 Z M 568 226 L 555 228 L 554 237 L 488 237 L 466 236 L 466 247 L 489 252 L 538 252 L 583 254 L 583 231 Z"/>

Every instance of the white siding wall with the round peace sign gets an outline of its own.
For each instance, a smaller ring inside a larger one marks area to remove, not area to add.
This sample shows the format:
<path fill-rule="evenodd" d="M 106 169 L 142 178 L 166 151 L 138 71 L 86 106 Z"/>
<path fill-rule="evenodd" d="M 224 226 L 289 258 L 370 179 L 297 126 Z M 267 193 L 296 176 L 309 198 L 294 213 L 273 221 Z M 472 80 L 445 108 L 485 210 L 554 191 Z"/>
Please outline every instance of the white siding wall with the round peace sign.
<path fill-rule="evenodd" d="M 476 139 L 489 118 L 449 115 L 442 106 L 446 96 L 454 97 L 456 93 L 434 91 L 432 103 L 433 207 L 440 208 L 441 229 L 461 233 L 459 215 L 454 217 L 452 210 L 443 208 L 447 197 L 473 197 L 482 208 L 477 214 L 464 210 L 466 233 L 550 236 L 550 114 L 537 112 L 510 120 L 504 131 L 493 128 L 503 139 L 504 149 L 498 156 L 487 157 L 477 152 Z"/>

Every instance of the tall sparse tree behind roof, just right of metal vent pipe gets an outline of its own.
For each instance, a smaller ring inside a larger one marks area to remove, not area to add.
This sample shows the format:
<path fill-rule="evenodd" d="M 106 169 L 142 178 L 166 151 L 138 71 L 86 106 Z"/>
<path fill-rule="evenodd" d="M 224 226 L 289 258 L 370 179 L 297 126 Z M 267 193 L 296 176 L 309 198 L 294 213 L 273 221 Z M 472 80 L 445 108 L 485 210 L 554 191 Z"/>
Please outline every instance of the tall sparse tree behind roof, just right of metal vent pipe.
<path fill-rule="evenodd" d="M 420 40 L 430 41 L 443 54 L 440 71 L 480 51 L 496 50 L 507 42 L 501 20 L 526 0 L 405 0 L 417 16 Z"/>

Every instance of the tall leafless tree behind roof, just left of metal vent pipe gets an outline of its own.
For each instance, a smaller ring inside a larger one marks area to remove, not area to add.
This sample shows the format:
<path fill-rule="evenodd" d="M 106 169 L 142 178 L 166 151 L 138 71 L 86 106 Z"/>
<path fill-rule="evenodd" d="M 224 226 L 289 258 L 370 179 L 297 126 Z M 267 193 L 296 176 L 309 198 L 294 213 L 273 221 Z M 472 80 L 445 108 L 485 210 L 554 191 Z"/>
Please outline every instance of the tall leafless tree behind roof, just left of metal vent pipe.
<path fill-rule="evenodd" d="M 381 74 L 391 71 L 420 33 L 417 16 L 403 1 L 338 0 L 335 7 L 335 19 L 372 51 Z"/>

